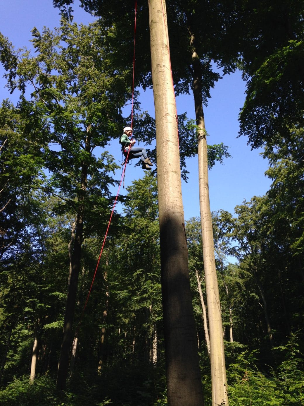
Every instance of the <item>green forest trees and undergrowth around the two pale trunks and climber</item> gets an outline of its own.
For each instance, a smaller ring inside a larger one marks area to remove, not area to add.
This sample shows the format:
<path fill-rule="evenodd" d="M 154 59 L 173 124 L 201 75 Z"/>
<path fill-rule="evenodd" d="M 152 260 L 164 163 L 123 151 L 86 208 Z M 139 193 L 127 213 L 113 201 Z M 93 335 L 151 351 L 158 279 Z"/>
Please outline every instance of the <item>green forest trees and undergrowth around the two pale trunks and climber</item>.
<path fill-rule="evenodd" d="M 206 105 L 220 80 L 214 66 L 223 74 L 240 69 L 240 135 L 269 162 L 264 196 L 239 202 L 234 214 L 212 213 L 229 404 L 304 405 L 303 4 L 166 3 L 169 35 L 179 44 L 171 55 L 176 92 L 194 90 L 198 63 Z M 107 147 L 131 119 L 124 106 L 133 90 L 134 21 L 126 17 L 134 4 L 83 0 L 96 16 L 88 26 L 70 19 L 73 1 L 54 5 L 60 27 L 33 28 L 34 54 L 16 51 L 0 34 L 7 84 L 20 95 L 0 107 L 0 401 L 165 406 L 157 170 L 143 172 L 119 197 L 123 209 L 114 212 L 83 311 L 119 184 L 120 164 Z M 136 89 L 152 85 L 147 15 L 141 2 Z M 137 96 L 138 141 L 155 160 L 155 123 Z M 186 178 L 194 176 L 186 158 L 197 154 L 197 125 L 182 114 L 179 131 Z M 227 146 L 208 146 L 210 168 L 228 157 Z M 201 219 L 190 218 L 184 231 L 207 406 Z"/>

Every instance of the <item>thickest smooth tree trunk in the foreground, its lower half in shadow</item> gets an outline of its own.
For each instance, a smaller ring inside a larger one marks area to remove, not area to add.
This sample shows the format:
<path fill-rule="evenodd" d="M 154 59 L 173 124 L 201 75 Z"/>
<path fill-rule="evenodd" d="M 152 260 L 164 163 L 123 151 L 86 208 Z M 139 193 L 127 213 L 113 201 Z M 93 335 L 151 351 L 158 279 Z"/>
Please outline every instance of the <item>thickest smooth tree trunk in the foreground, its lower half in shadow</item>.
<path fill-rule="evenodd" d="M 148 0 L 148 4 L 168 404 L 201 406 L 203 392 L 188 270 L 165 0 Z"/>

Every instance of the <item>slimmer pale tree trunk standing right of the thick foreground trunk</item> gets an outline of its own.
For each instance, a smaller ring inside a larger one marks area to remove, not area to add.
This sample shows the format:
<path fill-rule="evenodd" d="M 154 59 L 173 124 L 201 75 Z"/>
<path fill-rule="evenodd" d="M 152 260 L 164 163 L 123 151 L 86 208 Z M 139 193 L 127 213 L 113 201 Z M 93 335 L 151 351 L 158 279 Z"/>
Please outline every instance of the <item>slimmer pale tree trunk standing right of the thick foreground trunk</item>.
<path fill-rule="evenodd" d="M 203 261 L 206 282 L 208 321 L 210 331 L 210 362 L 212 381 L 212 405 L 228 406 L 227 378 L 224 355 L 224 340 L 221 318 L 220 295 L 216 275 L 212 218 L 209 201 L 208 157 L 206 128 L 202 102 L 201 62 L 193 45 L 193 95 L 196 124 L 199 127 L 198 160 L 199 160 L 199 207 L 201 214 L 201 231 L 203 238 Z"/>

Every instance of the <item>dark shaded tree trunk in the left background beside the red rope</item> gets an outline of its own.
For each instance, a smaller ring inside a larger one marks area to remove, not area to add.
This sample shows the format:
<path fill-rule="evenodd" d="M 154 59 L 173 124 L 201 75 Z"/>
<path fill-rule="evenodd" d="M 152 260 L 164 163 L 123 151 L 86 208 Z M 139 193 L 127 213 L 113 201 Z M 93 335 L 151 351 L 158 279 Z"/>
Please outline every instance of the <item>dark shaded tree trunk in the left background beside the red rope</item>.
<path fill-rule="evenodd" d="M 90 153 L 90 126 L 87 128 L 87 137 L 85 142 L 85 151 Z M 79 194 L 79 208 L 76 220 L 72 227 L 71 240 L 69 242 L 70 272 L 68 281 L 68 294 L 66 298 L 66 308 L 64 314 L 63 338 L 60 349 L 60 357 L 57 371 L 57 389 L 64 389 L 69 370 L 69 358 L 73 338 L 73 318 L 77 295 L 78 275 L 80 270 L 81 244 L 83 233 L 83 216 L 87 184 L 88 184 L 88 165 L 82 164 L 81 167 L 81 194 Z"/>

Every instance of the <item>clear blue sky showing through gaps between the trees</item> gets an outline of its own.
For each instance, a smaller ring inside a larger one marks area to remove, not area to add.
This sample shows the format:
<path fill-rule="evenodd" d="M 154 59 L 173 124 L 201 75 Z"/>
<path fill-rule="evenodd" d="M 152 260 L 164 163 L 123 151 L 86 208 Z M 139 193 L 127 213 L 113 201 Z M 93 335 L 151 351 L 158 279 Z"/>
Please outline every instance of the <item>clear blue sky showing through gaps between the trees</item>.
<path fill-rule="evenodd" d="M 9 38 L 15 48 L 23 46 L 31 48 L 29 40 L 34 26 L 38 30 L 42 30 L 43 26 L 51 29 L 59 26 L 60 16 L 52 3 L 52 0 L 2 0 L 0 2 L 0 31 Z M 92 16 L 79 7 L 78 1 L 75 1 L 73 9 L 75 22 L 87 24 L 94 20 Z M 4 70 L 1 66 L 0 99 L 9 97 L 15 103 L 17 95 L 10 96 L 7 89 L 4 89 L 3 73 Z M 250 147 L 247 146 L 245 137 L 237 138 L 238 113 L 244 104 L 244 90 L 245 86 L 240 73 L 224 76 L 211 90 L 211 99 L 208 102 L 208 107 L 204 109 L 206 130 L 210 135 L 207 139 L 208 144 L 223 142 L 229 146 L 229 153 L 232 156 L 232 158 L 226 159 L 223 165 L 216 164 L 209 171 L 210 207 L 212 211 L 225 209 L 233 213 L 235 205 L 241 204 L 244 199 L 250 200 L 255 195 L 262 196 L 270 186 L 270 180 L 264 175 L 268 168 L 268 162 L 259 155 L 261 150 L 251 151 Z M 142 108 L 148 110 L 154 117 L 152 91 L 146 92 L 140 100 Z M 193 97 L 188 95 L 178 97 L 177 110 L 178 114 L 186 111 L 188 118 L 194 119 Z M 127 112 L 126 115 L 130 112 Z M 136 125 L 134 138 L 136 139 Z M 115 156 L 117 162 L 120 162 L 121 152 L 117 140 L 113 141 L 109 151 Z M 186 220 L 193 216 L 199 216 L 197 157 L 188 160 L 188 171 L 190 172 L 188 183 L 182 182 Z M 138 179 L 142 175 L 141 168 L 128 166 L 125 185 L 130 185 L 133 179 Z M 120 179 L 119 172 L 116 173 L 116 176 Z M 114 194 L 115 192 L 113 190 Z M 126 191 L 121 188 L 121 193 L 125 194 Z M 117 208 L 119 209 L 119 207 Z"/>

